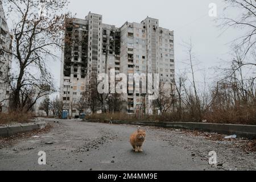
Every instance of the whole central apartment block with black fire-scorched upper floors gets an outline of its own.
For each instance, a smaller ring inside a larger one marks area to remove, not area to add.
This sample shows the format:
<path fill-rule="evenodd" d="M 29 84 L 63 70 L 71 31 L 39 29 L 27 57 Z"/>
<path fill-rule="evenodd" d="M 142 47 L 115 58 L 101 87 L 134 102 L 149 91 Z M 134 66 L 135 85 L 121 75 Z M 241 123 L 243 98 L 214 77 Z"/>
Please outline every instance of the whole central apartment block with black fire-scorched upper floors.
<path fill-rule="evenodd" d="M 115 69 L 118 73 L 159 73 L 160 81 L 174 80 L 174 32 L 159 27 L 159 20 L 146 18 L 141 23 L 126 22 L 118 28 L 102 23 L 102 15 L 89 13 L 85 19 L 71 18 L 65 22 L 65 47 L 61 65 L 61 89 L 64 109 L 79 115 L 76 103 L 82 100 L 86 86 L 100 73 Z M 107 55 L 107 66 L 105 57 Z M 135 113 L 145 100 L 142 94 L 129 92 L 127 113 Z M 152 113 L 147 101 L 147 113 Z"/>

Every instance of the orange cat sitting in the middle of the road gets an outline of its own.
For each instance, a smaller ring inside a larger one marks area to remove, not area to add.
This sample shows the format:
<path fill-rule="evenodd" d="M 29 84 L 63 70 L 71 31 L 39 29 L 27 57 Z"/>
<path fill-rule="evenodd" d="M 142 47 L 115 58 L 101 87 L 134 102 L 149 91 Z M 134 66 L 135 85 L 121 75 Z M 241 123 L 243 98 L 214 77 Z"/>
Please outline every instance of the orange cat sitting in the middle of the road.
<path fill-rule="evenodd" d="M 131 146 L 133 146 L 133 150 L 135 152 L 143 152 L 142 145 L 143 145 L 145 138 L 146 138 L 146 131 L 141 130 L 140 127 L 136 132 L 134 132 L 131 135 L 130 143 L 131 143 Z"/>

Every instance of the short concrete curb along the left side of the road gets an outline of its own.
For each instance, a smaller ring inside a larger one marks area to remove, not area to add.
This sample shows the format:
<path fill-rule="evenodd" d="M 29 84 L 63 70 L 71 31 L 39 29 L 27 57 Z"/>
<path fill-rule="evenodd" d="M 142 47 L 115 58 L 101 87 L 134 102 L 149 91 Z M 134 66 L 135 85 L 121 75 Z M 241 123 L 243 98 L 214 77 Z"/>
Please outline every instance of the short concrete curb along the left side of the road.
<path fill-rule="evenodd" d="M 31 123 L 31 125 L 0 127 L 0 137 L 11 137 L 19 133 L 28 133 L 30 131 L 42 130 L 44 127 L 46 127 L 46 122 Z"/>

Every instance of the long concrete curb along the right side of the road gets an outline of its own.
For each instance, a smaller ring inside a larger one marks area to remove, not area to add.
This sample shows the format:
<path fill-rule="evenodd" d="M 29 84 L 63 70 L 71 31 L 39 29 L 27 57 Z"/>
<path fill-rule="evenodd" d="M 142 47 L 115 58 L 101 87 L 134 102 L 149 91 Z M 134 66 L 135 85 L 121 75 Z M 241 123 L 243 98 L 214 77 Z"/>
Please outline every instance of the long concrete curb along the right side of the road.
<path fill-rule="evenodd" d="M 95 121 L 89 121 L 95 122 Z M 109 123 L 109 122 L 108 122 Z M 237 137 L 256 139 L 256 125 L 232 125 L 217 123 L 193 123 L 193 122 L 147 122 L 147 121 L 112 121 L 114 124 L 156 126 L 174 129 L 188 129 L 218 133 L 225 135 L 236 134 Z"/>

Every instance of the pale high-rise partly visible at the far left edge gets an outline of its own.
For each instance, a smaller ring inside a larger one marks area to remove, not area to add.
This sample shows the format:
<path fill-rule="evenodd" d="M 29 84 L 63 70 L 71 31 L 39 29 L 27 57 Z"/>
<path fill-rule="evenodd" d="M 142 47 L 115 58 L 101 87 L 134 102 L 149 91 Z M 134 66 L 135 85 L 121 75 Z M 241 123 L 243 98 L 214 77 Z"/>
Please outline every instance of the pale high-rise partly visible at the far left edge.
<path fill-rule="evenodd" d="M 11 69 L 11 36 L 0 1 L 0 111 L 7 111 L 10 87 L 6 84 Z"/>

